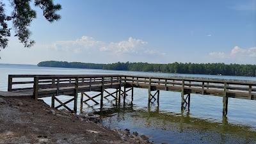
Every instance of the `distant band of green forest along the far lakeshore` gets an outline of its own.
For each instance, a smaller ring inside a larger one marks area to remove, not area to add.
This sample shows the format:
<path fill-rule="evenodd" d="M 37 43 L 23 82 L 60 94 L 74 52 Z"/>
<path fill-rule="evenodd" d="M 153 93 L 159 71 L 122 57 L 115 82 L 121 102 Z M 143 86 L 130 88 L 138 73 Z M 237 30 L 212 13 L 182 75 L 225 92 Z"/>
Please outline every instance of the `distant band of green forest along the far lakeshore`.
<path fill-rule="evenodd" d="M 80 63 L 67 61 L 42 61 L 39 67 L 91 68 L 104 70 L 131 70 L 140 72 L 166 72 L 179 74 L 211 74 L 225 76 L 256 76 L 256 65 L 225 63 Z"/>

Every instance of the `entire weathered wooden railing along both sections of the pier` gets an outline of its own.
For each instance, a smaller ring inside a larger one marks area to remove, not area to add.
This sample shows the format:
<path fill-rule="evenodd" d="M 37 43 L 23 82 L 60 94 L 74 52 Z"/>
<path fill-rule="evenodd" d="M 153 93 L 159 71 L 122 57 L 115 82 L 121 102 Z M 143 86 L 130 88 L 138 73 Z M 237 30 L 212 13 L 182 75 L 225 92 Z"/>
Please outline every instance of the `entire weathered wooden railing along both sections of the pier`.
<path fill-rule="evenodd" d="M 223 96 L 226 90 L 228 97 L 256 99 L 256 83 L 245 81 L 224 81 L 209 79 L 182 79 L 177 77 L 149 77 L 124 75 L 9 75 L 8 91 L 33 91 L 33 95 L 45 95 L 53 91 L 64 92 L 76 88 L 78 91 L 92 90 L 101 84 L 110 87 L 113 84 L 129 85 L 151 90 L 181 92 L 182 88 L 189 93 Z"/>

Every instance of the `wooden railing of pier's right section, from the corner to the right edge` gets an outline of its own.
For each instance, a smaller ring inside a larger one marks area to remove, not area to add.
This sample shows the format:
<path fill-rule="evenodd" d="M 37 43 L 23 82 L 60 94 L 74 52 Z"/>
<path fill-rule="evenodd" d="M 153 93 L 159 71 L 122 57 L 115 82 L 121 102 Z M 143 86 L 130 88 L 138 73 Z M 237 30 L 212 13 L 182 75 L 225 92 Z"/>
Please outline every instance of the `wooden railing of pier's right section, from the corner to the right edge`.
<path fill-rule="evenodd" d="M 226 92 L 228 97 L 256 99 L 256 83 L 253 81 L 246 82 L 145 76 L 125 76 L 125 81 L 127 84 L 138 88 L 148 88 L 150 86 L 151 90 L 182 92 L 182 89 L 184 89 L 188 93 L 216 95 L 221 97 L 223 96 L 223 93 Z"/>

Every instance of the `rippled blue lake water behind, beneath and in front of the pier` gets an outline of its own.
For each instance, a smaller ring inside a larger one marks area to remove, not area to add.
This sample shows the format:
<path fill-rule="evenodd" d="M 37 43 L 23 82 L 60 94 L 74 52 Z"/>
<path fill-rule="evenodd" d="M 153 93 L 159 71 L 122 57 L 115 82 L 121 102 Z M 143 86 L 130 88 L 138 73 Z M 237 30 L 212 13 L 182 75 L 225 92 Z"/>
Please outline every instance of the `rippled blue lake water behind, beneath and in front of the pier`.
<path fill-rule="evenodd" d="M 256 81 L 256 77 L 161 74 L 115 70 L 48 68 L 34 65 L 0 64 L 0 90 L 7 90 L 8 74 L 145 74 L 150 76 L 207 77 Z M 114 92 L 114 90 L 109 90 Z M 88 92 L 94 94 L 96 92 Z M 134 100 L 128 92 L 126 104 L 104 99 L 102 122 L 106 127 L 131 129 L 146 134 L 156 143 L 256 143 L 256 100 L 228 99 L 227 118 L 222 117 L 222 98 L 191 95 L 190 111 L 180 111 L 180 93 L 160 91 L 157 102 L 148 105 L 148 90 L 134 88 Z M 70 99 L 59 96 L 63 101 Z M 80 104 L 78 97 L 78 106 Z M 44 98 L 51 104 L 51 98 Z M 99 100 L 99 99 L 97 99 Z M 123 100 L 121 100 L 122 102 Z M 58 103 L 56 103 L 58 105 Z M 72 108 L 72 104 L 68 105 Z M 99 113 L 99 105 L 83 105 L 84 112 Z"/>

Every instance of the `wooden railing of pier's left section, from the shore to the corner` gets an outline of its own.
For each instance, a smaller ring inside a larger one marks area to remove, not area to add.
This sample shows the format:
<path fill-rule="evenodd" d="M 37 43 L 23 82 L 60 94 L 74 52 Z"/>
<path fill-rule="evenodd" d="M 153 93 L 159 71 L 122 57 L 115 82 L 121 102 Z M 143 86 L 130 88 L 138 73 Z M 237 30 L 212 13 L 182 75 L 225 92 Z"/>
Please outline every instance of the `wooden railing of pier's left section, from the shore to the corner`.
<path fill-rule="evenodd" d="M 99 91 L 99 86 L 122 85 L 120 75 L 9 75 L 8 92 L 28 92 L 35 98 L 74 95 L 77 92 Z"/>

